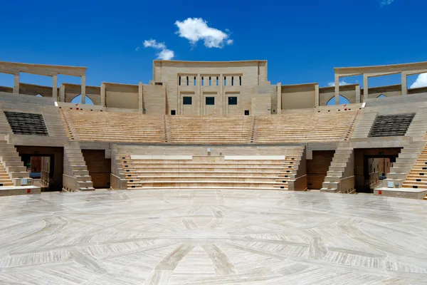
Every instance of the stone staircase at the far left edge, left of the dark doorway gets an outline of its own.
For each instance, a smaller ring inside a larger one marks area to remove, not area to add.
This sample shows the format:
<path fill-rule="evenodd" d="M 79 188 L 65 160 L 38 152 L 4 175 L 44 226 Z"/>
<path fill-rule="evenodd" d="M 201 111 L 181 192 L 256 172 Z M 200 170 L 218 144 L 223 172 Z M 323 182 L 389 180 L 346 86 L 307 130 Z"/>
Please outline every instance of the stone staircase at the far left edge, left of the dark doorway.
<path fill-rule="evenodd" d="M 23 186 L 23 185 L 33 185 L 33 180 L 30 178 L 30 174 L 26 171 L 26 167 L 23 165 L 19 153 L 16 151 L 14 145 L 10 145 L 6 140 L 0 140 L 0 160 L 1 167 L 0 173 L 4 170 L 9 175 L 9 180 L 6 181 L 6 176 L 0 181 L 4 181 L 7 185 L 3 186 Z M 26 183 L 22 183 L 23 179 Z M 12 185 L 9 184 L 9 181 L 12 182 Z M 0 182 L 1 183 L 1 182 Z"/>

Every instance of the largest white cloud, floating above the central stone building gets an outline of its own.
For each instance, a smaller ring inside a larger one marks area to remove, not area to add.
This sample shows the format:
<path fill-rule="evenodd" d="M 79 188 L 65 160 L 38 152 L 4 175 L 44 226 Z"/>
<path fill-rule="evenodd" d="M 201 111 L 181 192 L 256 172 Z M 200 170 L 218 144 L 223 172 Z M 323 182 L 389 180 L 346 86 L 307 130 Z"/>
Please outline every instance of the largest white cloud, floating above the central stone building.
<path fill-rule="evenodd" d="M 211 28 L 208 22 L 201 18 L 187 18 L 184 21 L 176 21 L 175 25 L 178 27 L 176 33 L 193 45 L 198 41 L 204 41 L 207 48 L 223 48 L 224 45 L 233 43 L 228 29 L 223 32 L 218 28 Z"/>

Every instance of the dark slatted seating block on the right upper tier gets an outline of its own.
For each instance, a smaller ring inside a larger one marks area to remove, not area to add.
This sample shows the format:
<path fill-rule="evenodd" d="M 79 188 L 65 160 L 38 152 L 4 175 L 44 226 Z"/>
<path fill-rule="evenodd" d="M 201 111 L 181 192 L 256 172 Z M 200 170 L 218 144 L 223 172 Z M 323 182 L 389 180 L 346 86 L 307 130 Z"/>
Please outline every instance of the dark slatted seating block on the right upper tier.
<path fill-rule="evenodd" d="M 405 135 L 415 113 L 399 115 L 378 115 L 372 125 L 369 137 L 392 137 Z"/>

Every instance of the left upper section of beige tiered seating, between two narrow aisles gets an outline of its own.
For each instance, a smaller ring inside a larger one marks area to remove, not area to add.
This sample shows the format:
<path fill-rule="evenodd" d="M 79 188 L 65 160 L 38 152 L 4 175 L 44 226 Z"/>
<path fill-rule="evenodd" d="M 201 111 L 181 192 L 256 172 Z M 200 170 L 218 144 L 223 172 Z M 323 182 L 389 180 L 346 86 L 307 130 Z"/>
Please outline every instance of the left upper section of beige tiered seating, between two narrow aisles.
<path fill-rule="evenodd" d="M 163 116 L 61 109 L 72 140 L 164 142 Z"/>

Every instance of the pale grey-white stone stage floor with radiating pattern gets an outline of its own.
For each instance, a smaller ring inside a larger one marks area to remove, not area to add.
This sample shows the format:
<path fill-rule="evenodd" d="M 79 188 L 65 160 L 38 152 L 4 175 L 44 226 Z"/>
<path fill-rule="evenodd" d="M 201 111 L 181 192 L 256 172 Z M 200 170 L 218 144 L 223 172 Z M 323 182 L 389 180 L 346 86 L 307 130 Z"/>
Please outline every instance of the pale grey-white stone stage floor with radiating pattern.
<path fill-rule="evenodd" d="M 427 284 L 427 202 L 157 190 L 0 198 L 0 284 Z"/>

